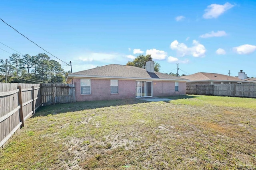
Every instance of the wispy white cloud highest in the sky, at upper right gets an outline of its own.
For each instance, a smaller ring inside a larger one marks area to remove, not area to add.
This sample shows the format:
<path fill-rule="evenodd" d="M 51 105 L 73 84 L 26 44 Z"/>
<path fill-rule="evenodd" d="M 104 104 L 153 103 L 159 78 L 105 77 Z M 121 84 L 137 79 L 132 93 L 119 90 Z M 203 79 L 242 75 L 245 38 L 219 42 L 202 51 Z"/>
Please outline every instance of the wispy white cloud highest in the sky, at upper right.
<path fill-rule="evenodd" d="M 207 8 L 204 10 L 205 13 L 203 15 L 203 18 L 205 18 L 205 19 L 218 18 L 225 11 L 227 11 L 233 7 L 234 7 L 234 5 L 232 5 L 228 2 L 226 2 L 224 5 L 211 4 L 211 5 L 207 6 Z"/>

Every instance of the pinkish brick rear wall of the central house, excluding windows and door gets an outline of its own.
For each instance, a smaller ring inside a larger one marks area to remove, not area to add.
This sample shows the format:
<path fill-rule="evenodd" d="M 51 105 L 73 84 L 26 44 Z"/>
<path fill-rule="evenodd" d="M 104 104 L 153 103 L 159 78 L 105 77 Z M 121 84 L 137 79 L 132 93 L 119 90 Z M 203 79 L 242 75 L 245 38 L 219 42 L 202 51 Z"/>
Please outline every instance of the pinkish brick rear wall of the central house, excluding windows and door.
<path fill-rule="evenodd" d="M 110 94 L 110 79 L 92 79 L 91 94 L 81 94 L 80 78 L 74 78 L 76 101 L 118 100 L 136 98 L 136 80 L 118 80 L 118 94 Z M 153 96 L 174 96 L 186 94 L 186 82 L 179 82 L 175 92 L 175 82 L 153 81 Z"/>

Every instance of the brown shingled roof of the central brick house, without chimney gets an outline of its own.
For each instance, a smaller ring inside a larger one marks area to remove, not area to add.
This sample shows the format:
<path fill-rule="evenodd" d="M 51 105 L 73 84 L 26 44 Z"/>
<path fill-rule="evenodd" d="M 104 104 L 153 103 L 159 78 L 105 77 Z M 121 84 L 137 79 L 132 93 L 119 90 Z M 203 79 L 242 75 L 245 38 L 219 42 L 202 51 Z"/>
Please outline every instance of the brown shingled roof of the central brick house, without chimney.
<path fill-rule="evenodd" d="M 176 77 L 160 72 L 147 72 L 146 69 L 143 68 L 120 64 L 109 64 L 106 66 L 100 66 L 89 70 L 68 74 L 68 79 L 72 77 L 188 81 L 185 78 Z M 66 82 L 70 82 L 68 79 Z"/>

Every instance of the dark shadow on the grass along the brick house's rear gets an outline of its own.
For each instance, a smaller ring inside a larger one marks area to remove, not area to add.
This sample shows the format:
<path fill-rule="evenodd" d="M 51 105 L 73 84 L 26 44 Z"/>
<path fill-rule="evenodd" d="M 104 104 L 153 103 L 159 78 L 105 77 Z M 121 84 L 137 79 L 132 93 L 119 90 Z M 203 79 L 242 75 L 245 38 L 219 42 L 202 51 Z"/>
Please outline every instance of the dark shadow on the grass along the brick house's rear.
<path fill-rule="evenodd" d="M 110 106 L 123 106 L 123 105 L 134 105 L 139 103 L 147 103 L 139 99 L 124 99 L 124 100 L 102 100 L 102 101 L 89 101 L 89 102 L 76 102 L 69 104 L 56 104 L 51 106 L 42 106 L 36 111 L 33 117 L 36 116 L 47 116 L 49 114 L 55 115 L 60 113 L 67 113 L 73 111 L 81 111 L 87 109 L 96 109 Z"/>

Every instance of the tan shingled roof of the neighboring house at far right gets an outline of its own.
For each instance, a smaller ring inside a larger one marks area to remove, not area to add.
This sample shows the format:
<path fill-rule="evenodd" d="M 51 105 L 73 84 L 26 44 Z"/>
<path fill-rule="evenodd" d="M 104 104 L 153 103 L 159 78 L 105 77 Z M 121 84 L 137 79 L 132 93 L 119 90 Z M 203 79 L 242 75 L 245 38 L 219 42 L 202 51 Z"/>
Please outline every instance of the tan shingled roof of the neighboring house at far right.
<path fill-rule="evenodd" d="M 227 76 L 218 73 L 198 72 L 189 76 L 182 76 L 190 80 L 189 82 L 206 82 L 206 81 L 221 81 L 221 82 L 253 82 L 251 80 L 242 80 L 237 77 Z"/>

